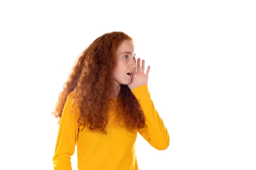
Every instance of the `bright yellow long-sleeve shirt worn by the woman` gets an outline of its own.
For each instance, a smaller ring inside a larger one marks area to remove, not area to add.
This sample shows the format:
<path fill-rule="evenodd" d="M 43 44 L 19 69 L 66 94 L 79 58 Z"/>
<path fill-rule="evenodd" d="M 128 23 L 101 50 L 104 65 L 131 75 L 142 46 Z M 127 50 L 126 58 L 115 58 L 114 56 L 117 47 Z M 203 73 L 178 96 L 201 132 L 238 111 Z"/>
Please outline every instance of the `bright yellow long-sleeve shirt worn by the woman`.
<path fill-rule="evenodd" d="M 107 135 L 89 132 L 86 127 L 81 131 L 78 124 L 79 111 L 72 111 L 71 108 L 73 100 L 70 96 L 73 92 L 67 96 L 53 156 L 55 170 L 72 170 L 70 159 L 75 152 L 75 145 L 78 170 L 138 170 L 135 154 L 137 132 L 158 150 L 165 150 L 169 146 L 169 133 L 154 107 L 148 85 L 131 91 L 143 109 L 147 125 L 134 133 L 117 124 L 115 113 L 112 113 L 106 127 Z"/>

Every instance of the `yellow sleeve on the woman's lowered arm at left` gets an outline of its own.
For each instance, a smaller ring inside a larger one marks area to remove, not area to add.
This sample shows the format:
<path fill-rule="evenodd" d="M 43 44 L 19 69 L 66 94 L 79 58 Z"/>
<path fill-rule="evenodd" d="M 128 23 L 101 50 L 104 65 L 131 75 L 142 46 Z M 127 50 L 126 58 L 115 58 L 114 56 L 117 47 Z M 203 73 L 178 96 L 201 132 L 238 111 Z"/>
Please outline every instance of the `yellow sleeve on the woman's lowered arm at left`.
<path fill-rule="evenodd" d="M 75 152 L 78 123 L 75 105 L 73 106 L 74 109 L 71 108 L 73 99 L 70 99 L 70 94 L 67 96 L 58 129 L 55 154 L 53 156 L 54 170 L 72 170 L 70 159 Z"/>

